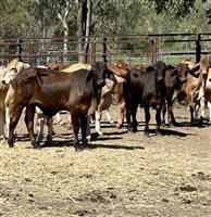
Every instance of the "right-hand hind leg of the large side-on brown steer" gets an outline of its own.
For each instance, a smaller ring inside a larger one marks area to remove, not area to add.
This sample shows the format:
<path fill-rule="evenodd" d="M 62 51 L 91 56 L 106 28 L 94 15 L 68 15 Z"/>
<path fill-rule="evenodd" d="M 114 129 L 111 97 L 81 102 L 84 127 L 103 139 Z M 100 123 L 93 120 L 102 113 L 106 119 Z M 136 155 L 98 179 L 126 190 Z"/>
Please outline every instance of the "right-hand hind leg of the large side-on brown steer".
<path fill-rule="evenodd" d="M 28 136 L 30 138 L 30 143 L 34 148 L 38 148 L 39 143 L 36 142 L 34 133 L 34 117 L 35 117 L 35 105 L 30 104 L 26 106 L 25 124 L 28 130 Z"/>

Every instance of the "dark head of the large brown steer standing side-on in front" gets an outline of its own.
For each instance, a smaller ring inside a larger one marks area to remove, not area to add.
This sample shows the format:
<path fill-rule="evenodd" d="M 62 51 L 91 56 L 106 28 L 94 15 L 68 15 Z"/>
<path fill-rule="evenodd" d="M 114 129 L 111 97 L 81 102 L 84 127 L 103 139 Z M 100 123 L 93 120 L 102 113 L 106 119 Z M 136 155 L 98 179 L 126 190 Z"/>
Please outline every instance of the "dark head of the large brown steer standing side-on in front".
<path fill-rule="evenodd" d="M 110 78 L 113 74 L 102 62 L 96 62 L 87 73 L 87 80 L 91 78 L 97 82 L 97 87 L 101 89 L 105 85 L 105 78 Z"/>

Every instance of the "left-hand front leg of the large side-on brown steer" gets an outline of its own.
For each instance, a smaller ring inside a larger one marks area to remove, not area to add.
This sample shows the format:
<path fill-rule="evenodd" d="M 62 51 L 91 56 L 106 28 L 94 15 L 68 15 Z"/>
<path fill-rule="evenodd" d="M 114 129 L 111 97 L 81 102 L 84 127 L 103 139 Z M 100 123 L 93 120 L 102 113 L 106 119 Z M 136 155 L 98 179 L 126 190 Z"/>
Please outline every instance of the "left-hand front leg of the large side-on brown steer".
<path fill-rule="evenodd" d="M 74 137 L 75 151 L 82 151 L 82 145 L 79 144 L 79 140 L 78 140 L 79 114 L 77 112 L 71 112 L 71 119 L 73 124 L 73 137 Z"/>

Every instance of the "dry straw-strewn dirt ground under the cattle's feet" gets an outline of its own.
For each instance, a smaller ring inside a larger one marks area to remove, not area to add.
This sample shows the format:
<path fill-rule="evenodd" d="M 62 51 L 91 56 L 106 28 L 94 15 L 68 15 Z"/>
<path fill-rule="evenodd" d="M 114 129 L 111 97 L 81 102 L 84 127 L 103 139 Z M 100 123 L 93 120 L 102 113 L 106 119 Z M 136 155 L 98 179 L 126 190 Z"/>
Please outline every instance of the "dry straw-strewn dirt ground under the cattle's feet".
<path fill-rule="evenodd" d="M 142 110 L 136 133 L 103 116 L 104 135 L 82 152 L 58 125 L 51 146 L 33 149 L 21 119 L 15 148 L 0 145 L 0 216 L 211 216 L 211 125 L 191 127 L 186 106 L 174 111 L 179 126 L 162 128 L 163 137 L 154 135 L 152 112 L 150 138 Z M 116 120 L 115 105 L 111 113 Z"/>

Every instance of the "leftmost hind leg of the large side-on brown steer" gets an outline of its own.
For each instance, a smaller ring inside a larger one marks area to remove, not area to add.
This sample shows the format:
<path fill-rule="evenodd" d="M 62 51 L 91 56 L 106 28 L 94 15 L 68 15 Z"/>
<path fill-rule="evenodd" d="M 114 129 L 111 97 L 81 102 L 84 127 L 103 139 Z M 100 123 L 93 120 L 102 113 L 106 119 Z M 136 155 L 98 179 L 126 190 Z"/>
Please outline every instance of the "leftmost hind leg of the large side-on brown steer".
<path fill-rule="evenodd" d="M 9 110 L 9 115 L 10 115 L 10 122 L 9 123 L 10 124 L 9 124 L 8 144 L 9 144 L 10 148 L 14 146 L 14 130 L 15 130 L 15 127 L 16 127 L 18 119 L 22 115 L 23 108 L 24 108 L 24 106 L 20 105 L 20 106 L 16 106 L 13 112 L 11 112 L 12 110 Z"/>

